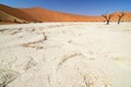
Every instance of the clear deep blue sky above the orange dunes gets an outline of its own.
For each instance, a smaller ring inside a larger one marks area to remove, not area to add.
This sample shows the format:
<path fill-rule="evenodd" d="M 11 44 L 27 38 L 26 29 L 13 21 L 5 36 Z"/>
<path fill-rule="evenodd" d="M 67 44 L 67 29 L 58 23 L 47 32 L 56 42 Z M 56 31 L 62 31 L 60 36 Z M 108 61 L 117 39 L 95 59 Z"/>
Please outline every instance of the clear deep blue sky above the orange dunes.
<path fill-rule="evenodd" d="M 66 13 L 100 15 L 116 11 L 130 11 L 131 0 L 0 0 L 15 8 L 40 7 Z"/>

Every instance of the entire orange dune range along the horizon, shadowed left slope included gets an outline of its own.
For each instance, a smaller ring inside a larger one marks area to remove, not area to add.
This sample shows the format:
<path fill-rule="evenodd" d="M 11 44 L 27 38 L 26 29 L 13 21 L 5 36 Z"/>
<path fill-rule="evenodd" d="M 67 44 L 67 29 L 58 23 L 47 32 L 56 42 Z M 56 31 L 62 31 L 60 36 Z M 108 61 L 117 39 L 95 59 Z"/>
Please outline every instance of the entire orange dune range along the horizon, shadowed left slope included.
<path fill-rule="evenodd" d="M 114 13 L 111 21 L 117 21 L 117 15 L 120 12 Z M 5 17 L 8 15 L 8 18 Z M 9 15 L 11 18 L 9 18 Z M 4 16 L 4 17 L 3 17 Z M 14 20 L 12 20 L 12 17 Z M 1 22 L 103 22 L 105 18 L 102 16 L 88 16 L 88 15 L 76 15 L 69 13 L 61 13 L 57 11 L 49 11 L 38 7 L 29 9 L 17 9 L 11 8 L 4 4 L 0 4 L 0 21 Z M 131 13 L 126 12 L 122 21 L 131 21 Z"/>

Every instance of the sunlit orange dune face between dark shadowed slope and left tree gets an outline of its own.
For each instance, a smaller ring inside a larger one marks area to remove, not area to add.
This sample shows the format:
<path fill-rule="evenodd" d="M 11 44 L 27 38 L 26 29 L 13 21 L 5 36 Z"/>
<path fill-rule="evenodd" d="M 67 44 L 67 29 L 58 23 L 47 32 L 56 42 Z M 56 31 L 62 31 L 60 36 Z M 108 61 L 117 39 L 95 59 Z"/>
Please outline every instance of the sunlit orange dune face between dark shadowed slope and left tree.
<path fill-rule="evenodd" d="M 75 15 L 61 12 L 49 11 L 40 8 L 19 9 L 33 17 L 43 22 L 85 22 L 85 21 L 102 21 L 99 16 Z M 97 18 L 97 20 L 96 20 Z"/>

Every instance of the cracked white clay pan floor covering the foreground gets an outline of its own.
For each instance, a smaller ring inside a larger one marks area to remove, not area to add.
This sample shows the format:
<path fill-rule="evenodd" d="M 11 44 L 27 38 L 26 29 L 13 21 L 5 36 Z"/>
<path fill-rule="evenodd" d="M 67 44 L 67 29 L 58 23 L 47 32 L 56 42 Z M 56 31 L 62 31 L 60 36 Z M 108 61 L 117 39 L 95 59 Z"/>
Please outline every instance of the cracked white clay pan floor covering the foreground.
<path fill-rule="evenodd" d="M 0 87 L 130 87 L 130 27 L 0 25 Z"/>

